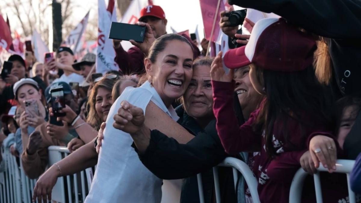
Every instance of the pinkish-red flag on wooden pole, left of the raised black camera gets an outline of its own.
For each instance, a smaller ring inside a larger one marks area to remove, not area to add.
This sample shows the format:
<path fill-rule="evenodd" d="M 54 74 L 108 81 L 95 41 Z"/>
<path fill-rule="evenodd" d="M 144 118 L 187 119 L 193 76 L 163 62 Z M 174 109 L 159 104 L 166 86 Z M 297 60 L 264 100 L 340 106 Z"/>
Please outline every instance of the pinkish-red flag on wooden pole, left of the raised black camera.
<path fill-rule="evenodd" d="M 221 16 L 219 15 L 219 13 L 222 10 L 225 10 L 225 5 L 223 3 L 223 0 L 221 0 L 221 3 L 219 4 L 218 13 L 216 13 L 218 0 L 199 0 L 199 3 L 201 6 L 205 38 L 207 40 L 210 40 L 210 35 L 212 32 L 212 27 L 214 22 L 214 15 L 217 15 L 212 40 L 210 40 L 212 42 L 216 42 L 218 39 L 218 35 L 221 32 L 218 25 L 218 22 L 221 20 Z"/>

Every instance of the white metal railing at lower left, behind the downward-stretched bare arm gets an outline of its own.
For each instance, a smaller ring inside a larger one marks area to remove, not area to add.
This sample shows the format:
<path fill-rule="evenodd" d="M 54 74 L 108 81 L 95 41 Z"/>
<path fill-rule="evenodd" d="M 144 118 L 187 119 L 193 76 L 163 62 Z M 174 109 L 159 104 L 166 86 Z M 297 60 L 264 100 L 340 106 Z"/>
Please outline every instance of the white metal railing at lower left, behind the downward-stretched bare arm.
<path fill-rule="evenodd" d="M 31 203 L 36 180 L 25 175 L 21 160 L 18 160 L 18 164 L 17 158 L 11 155 L 8 149 L 2 148 L 1 154 L 5 170 L 0 172 L 0 203 Z M 68 155 L 69 150 L 66 147 L 50 146 L 49 165 Z M 83 202 L 90 189 L 92 177 L 93 171 L 88 168 L 79 175 L 58 178 L 52 190 L 52 201 L 58 203 Z"/>

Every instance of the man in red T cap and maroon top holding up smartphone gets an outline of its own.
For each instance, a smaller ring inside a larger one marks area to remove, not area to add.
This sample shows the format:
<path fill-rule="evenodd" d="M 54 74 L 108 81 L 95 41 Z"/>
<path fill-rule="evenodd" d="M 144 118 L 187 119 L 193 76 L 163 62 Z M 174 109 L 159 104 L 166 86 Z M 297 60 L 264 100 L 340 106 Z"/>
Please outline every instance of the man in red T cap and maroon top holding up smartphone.
<path fill-rule="evenodd" d="M 147 5 L 140 11 L 140 18 L 138 25 L 145 26 L 145 23 L 149 24 L 152 28 L 154 38 L 144 41 L 141 44 L 136 43 L 134 40 L 129 42 L 134 45 L 128 51 L 125 51 L 120 44 L 121 40 L 113 40 L 114 50 L 116 57 L 114 61 L 117 62 L 119 68 L 125 75 L 142 74 L 145 72 L 144 58 L 148 54 L 148 49 L 151 47 L 155 39 L 167 34 L 166 26 L 167 19 L 165 13 L 160 6 Z M 194 58 L 196 59 L 200 55 L 198 47 L 192 42 L 191 38 L 186 34 L 182 34 L 193 46 Z M 144 46 L 145 45 L 145 46 Z"/>

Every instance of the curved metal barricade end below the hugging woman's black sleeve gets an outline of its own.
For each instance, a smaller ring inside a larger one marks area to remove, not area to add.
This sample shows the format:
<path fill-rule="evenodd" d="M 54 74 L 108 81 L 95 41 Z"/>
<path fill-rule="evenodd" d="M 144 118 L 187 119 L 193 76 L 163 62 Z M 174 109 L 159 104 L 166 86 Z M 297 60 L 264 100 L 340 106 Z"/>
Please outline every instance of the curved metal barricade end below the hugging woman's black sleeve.
<path fill-rule="evenodd" d="M 217 167 L 213 167 L 213 176 L 214 176 L 214 188 L 216 191 L 216 202 L 221 202 L 221 194 L 220 194 L 220 188 L 219 188 L 219 180 L 218 180 L 218 167 L 232 167 L 233 168 L 233 180 L 234 180 L 234 186 L 237 185 L 238 180 L 238 172 L 242 174 L 245 181 L 247 182 L 249 191 L 252 196 L 253 203 L 260 203 L 260 198 L 258 197 L 257 192 L 257 179 L 251 169 L 249 169 L 248 165 L 244 163 L 243 161 L 233 158 L 233 157 L 227 157 L 225 160 L 222 161 L 222 163 L 218 164 Z M 237 172 L 238 171 L 238 172 Z M 197 180 L 198 180 L 198 189 L 199 189 L 199 199 L 200 203 L 204 203 L 204 193 L 203 193 L 203 184 L 202 184 L 202 177 L 201 174 L 197 174 Z M 236 188 L 235 188 L 236 189 Z"/>

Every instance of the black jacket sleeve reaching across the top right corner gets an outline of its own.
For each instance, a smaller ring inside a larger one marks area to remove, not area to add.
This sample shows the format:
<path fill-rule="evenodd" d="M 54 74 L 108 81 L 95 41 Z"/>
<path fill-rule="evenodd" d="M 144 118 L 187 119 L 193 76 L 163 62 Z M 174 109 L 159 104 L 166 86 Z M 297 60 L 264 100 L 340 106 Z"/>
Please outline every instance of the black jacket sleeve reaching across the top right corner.
<path fill-rule="evenodd" d="M 360 0 L 229 0 L 243 8 L 275 13 L 317 35 L 360 39 Z"/>

